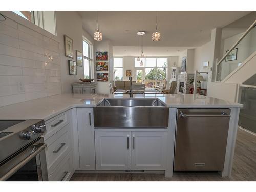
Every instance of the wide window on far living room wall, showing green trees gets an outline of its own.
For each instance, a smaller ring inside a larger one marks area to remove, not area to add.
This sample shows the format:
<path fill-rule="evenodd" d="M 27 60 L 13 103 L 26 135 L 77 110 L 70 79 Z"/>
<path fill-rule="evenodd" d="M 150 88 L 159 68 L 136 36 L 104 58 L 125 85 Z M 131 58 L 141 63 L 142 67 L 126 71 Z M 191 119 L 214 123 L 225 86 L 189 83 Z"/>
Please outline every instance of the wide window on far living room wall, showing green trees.
<path fill-rule="evenodd" d="M 142 61 L 142 63 L 140 63 Z M 135 68 L 144 68 L 146 87 L 155 88 L 167 79 L 167 58 L 134 58 Z M 138 74 L 137 74 L 138 76 Z M 138 78 L 137 78 L 138 79 Z M 137 80 L 139 82 L 139 80 Z M 141 80 L 140 80 L 141 81 Z"/>

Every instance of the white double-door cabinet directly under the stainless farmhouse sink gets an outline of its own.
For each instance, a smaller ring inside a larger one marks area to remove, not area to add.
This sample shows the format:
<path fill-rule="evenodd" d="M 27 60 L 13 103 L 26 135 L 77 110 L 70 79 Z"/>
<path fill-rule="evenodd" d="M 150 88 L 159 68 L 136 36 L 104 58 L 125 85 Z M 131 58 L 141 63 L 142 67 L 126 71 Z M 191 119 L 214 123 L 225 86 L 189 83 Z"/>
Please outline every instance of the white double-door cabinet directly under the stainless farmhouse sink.
<path fill-rule="evenodd" d="M 165 170 L 167 132 L 96 131 L 96 170 Z"/>

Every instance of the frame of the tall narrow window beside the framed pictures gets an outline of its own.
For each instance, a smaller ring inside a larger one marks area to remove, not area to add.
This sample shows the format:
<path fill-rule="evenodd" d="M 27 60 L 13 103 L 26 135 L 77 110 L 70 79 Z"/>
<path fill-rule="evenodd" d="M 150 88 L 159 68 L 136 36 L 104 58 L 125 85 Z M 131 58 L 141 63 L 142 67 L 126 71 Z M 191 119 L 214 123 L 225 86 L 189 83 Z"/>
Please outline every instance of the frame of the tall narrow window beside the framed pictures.
<path fill-rule="evenodd" d="M 82 38 L 82 45 L 83 45 L 83 41 L 86 42 L 86 44 L 88 45 L 88 56 L 84 56 L 83 55 L 83 47 L 82 47 L 82 62 L 83 62 L 83 76 L 84 78 L 86 78 L 86 75 L 84 73 L 84 59 L 88 60 L 89 61 L 89 78 L 90 79 L 94 79 L 94 68 L 93 68 L 93 63 L 94 63 L 94 60 L 93 60 L 93 44 L 91 43 L 91 41 L 89 41 L 86 37 L 83 36 Z"/>

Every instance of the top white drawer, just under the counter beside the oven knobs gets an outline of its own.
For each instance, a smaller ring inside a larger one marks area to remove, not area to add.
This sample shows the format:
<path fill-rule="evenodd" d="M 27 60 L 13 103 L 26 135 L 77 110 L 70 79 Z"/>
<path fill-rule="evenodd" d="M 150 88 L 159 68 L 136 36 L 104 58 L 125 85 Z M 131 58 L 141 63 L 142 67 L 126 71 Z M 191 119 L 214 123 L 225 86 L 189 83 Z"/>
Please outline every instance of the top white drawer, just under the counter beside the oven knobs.
<path fill-rule="evenodd" d="M 70 121 L 70 111 L 66 111 L 46 121 L 46 133 L 44 139 L 47 140 L 53 134 L 58 132 L 63 126 L 68 124 Z"/>

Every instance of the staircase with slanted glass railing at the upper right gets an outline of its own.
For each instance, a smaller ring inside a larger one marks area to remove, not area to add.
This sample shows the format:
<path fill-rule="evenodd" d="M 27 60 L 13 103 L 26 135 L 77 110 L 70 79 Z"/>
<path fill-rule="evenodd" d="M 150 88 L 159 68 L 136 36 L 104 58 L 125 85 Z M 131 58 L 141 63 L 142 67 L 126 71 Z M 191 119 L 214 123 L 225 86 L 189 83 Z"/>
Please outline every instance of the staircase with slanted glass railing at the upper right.
<path fill-rule="evenodd" d="M 256 74 L 256 20 L 217 63 L 217 81 L 242 84 Z"/>

